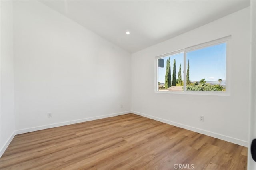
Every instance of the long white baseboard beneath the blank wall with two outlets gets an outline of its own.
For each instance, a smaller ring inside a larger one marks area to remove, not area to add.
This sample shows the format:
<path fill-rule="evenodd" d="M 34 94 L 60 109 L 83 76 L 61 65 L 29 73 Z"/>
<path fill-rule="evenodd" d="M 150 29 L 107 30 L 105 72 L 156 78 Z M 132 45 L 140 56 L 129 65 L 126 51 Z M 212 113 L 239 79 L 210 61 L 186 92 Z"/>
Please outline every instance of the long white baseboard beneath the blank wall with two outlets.
<path fill-rule="evenodd" d="M 64 125 L 71 125 L 71 124 L 74 124 L 74 123 L 93 121 L 93 120 L 96 120 L 96 119 L 102 119 L 102 118 L 106 118 L 106 117 L 124 115 L 124 114 L 128 114 L 128 113 L 131 113 L 131 111 L 112 113 L 112 114 L 101 115 L 101 116 L 96 116 L 96 117 L 88 117 L 88 118 L 77 119 L 77 120 L 73 120 L 73 121 L 53 123 L 53 124 L 42 125 L 42 126 L 38 126 L 38 127 L 24 128 L 24 129 L 16 130 L 16 134 L 23 134 L 23 133 L 28 133 L 28 132 L 34 132 L 34 131 L 37 131 L 37 130 L 44 130 L 44 129 L 47 129 L 47 128 L 60 127 L 60 126 L 64 126 Z"/>

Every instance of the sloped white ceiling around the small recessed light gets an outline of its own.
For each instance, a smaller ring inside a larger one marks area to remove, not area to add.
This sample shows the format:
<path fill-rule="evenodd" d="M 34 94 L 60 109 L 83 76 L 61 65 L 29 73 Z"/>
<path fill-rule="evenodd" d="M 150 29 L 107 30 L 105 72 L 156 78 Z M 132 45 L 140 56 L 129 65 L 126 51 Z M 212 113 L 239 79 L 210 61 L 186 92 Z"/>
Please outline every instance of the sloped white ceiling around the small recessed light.
<path fill-rule="evenodd" d="M 41 2 L 130 53 L 250 6 L 244 0 Z"/>

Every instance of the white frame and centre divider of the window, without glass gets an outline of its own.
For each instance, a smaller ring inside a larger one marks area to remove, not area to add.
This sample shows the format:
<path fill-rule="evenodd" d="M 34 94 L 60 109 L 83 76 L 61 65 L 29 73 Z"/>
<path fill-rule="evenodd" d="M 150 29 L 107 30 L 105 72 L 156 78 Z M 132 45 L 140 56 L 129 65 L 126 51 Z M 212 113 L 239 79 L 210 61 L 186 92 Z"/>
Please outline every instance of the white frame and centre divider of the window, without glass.
<path fill-rule="evenodd" d="M 230 78 L 231 78 L 231 71 L 230 71 L 230 40 L 231 36 L 226 36 L 223 38 L 219 38 L 216 40 L 212 40 L 210 42 L 201 43 L 198 45 L 194 45 L 191 47 L 187 47 L 184 49 L 180 49 L 177 51 L 173 51 L 170 53 L 166 53 L 163 55 L 158 55 L 155 57 L 155 93 L 168 93 L 168 94 L 188 94 L 188 95 L 219 95 L 219 96 L 230 96 Z M 213 45 L 218 45 L 221 43 L 226 43 L 226 91 L 188 91 L 186 90 L 186 53 L 190 51 L 195 51 L 198 49 L 210 47 Z M 169 55 L 175 55 L 178 53 L 184 53 L 183 60 L 184 60 L 184 70 L 183 70 L 183 81 L 184 81 L 184 90 L 183 91 L 159 91 L 158 90 L 158 59 L 167 57 Z"/>

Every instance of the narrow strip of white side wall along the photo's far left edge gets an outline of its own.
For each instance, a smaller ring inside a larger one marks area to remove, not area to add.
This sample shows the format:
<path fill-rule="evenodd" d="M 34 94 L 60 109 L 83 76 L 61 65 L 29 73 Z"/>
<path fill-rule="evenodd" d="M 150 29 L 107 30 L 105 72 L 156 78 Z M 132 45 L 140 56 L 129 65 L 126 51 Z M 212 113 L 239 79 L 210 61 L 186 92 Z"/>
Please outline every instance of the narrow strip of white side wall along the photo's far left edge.
<path fill-rule="evenodd" d="M 1 135 L 0 146 L 3 151 L 14 137 L 14 69 L 12 2 L 1 1 Z"/>

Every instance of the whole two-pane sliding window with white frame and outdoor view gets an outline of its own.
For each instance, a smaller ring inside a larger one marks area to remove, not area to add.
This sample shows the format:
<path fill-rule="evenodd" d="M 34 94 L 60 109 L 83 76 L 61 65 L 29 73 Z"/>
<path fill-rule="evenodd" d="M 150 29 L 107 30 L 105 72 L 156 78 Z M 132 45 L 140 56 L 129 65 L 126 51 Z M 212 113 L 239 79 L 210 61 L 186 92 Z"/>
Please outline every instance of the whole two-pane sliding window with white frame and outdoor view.
<path fill-rule="evenodd" d="M 225 94 L 230 38 L 156 57 L 156 92 Z"/>

